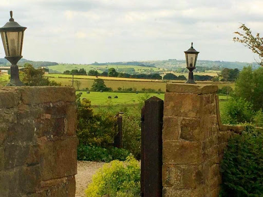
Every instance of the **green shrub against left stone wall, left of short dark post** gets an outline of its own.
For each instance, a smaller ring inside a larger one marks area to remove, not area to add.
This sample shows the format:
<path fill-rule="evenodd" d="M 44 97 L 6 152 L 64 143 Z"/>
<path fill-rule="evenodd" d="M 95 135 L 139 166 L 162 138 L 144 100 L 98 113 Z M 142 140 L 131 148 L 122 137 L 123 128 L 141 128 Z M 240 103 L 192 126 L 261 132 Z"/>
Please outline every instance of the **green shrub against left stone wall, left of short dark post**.
<path fill-rule="evenodd" d="M 80 144 L 107 147 L 117 134 L 117 121 L 110 113 L 94 114 L 90 101 L 77 100 L 77 136 Z"/>

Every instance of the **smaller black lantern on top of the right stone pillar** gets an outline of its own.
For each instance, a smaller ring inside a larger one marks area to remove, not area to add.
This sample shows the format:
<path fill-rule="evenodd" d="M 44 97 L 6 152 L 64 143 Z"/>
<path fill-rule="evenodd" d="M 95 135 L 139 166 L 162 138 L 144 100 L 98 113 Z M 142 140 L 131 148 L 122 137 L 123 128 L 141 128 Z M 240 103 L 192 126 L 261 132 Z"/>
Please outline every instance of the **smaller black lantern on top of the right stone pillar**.
<path fill-rule="evenodd" d="M 196 84 L 194 81 L 193 70 L 195 70 L 197 55 L 199 52 L 193 48 L 193 43 L 192 43 L 191 48 L 188 49 L 187 51 L 184 51 L 184 53 L 185 53 L 185 59 L 186 59 L 186 68 L 189 70 L 188 81 L 185 83 L 186 84 Z"/>

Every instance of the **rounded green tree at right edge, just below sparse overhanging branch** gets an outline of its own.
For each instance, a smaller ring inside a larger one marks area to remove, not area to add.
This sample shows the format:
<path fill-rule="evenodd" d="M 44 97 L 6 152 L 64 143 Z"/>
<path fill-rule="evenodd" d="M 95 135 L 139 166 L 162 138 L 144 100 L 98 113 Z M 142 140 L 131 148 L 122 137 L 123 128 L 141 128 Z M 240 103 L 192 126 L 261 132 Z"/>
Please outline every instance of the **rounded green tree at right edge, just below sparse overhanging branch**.
<path fill-rule="evenodd" d="M 253 109 L 263 109 L 263 67 L 253 70 L 251 66 L 244 67 L 239 73 L 235 85 L 235 95 L 242 97 L 251 104 Z"/>

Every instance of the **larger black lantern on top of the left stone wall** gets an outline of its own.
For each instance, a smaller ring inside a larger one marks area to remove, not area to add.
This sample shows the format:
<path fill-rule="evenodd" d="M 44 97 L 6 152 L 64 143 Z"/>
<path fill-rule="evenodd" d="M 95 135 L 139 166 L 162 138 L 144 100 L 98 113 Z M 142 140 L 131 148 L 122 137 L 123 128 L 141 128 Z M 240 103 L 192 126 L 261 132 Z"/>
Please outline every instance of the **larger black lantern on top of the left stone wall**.
<path fill-rule="evenodd" d="M 18 23 L 14 22 L 12 11 L 10 11 L 10 16 L 11 18 L 9 19 L 9 22 L 7 22 L 4 27 L 0 28 L 6 53 L 5 58 L 11 63 L 11 77 L 7 86 L 24 86 L 24 84 L 20 81 L 18 66 L 16 64 L 23 57 L 22 47 L 26 27 L 22 27 Z"/>

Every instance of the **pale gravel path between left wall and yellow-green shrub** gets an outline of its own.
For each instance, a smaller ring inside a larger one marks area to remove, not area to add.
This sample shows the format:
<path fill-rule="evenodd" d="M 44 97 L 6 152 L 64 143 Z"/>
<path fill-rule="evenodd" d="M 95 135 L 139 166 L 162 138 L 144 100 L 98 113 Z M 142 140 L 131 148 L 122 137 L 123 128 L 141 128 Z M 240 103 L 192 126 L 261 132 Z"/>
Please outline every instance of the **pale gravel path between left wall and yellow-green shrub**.
<path fill-rule="evenodd" d="M 76 178 L 76 197 L 84 197 L 87 185 L 91 183 L 92 175 L 102 167 L 102 162 L 84 162 L 78 161 L 78 173 Z"/>

